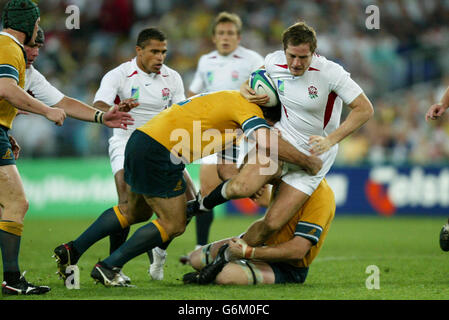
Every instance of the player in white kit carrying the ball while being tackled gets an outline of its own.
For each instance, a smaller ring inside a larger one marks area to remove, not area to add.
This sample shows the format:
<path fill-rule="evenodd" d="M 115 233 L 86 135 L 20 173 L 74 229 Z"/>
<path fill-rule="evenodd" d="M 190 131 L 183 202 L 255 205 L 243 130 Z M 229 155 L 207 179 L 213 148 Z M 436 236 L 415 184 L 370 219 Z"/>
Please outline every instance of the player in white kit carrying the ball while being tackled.
<path fill-rule="evenodd" d="M 264 218 L 243 237 L 251 245 L 262 245 L 291 219 L 331 168 L 338 143 L 373 114 L 371 102 L 349 73 L 315 53 L 313 28 L 298 22 L 284 31 L 282 39 L 284 50 L 267 55 L 264 66 L 282 103 L 281 120 L 275 127 L 299 151 L 319 156 L 323 166 L 316 175 L 309 175 L 298 167 L 284 165 L 281 183 Z M 241 94 L 257 104 L 268 101 L 266 95 L 255 95 L 247 84 L 242 85 Z M 343 102 L 351 111 L 340 124 Z M 211 209 L 229 199 L 246 197 L 244 190 L 257 190 L 270 178 L 244 166 L 236 177 L 202 199 L 201 207 Z"/>

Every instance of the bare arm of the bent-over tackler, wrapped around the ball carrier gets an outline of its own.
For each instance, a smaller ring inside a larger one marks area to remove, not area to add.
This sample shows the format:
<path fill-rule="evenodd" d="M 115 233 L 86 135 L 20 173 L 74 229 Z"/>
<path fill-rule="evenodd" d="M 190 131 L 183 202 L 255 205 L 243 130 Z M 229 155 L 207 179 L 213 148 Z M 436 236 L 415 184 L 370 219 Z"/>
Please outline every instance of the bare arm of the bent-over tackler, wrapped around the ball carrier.
<path fill-rule="evenodd" d="M 315 175 L 320 171 L 323 162 L 316 156 L 307 156 L 289 142 L 282 139 L 274 130 L 262 127 L 254 131 L 257 148 L 264 150 L 271 158 L 298 165 L 309 174 Z"/>

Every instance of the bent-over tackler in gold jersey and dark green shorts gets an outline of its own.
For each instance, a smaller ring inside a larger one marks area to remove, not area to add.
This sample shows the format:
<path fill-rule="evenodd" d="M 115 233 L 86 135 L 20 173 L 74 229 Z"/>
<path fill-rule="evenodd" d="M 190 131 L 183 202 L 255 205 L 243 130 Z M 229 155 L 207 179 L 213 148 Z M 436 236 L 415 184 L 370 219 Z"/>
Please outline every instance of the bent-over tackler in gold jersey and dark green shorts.
<path fill-rule="evenodd" d="M 185 163 L 226 149 L 242 134 L 254 138 L 266 154 L 276 149 L 279 160 L 310 174 L 321 168 L 318 157 L 304 155 L 270 130 L 262 109 L 238 91 L 218 91 L 175 104 L 137 128 L 128 140 L 124 166 L 128 203 L 107 209 L 77 239 L 55 248 L 62 275 L 97 241 L 156 213 L 156 220 L 136 230 L 92 270 L 91 276 L 106 286 L 126 285 L 120 277 L 125 263 L 164 247 L 185 231 Z"/>

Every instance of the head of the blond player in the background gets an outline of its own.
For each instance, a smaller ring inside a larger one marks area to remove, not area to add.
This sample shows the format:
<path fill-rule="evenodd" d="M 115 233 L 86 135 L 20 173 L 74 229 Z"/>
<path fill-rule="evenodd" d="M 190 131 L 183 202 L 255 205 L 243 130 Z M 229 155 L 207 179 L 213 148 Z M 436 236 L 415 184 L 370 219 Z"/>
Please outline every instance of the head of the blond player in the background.
<path fill-rule="evenodd" d="M 235 13 L 221 12 L 212 24 L 212 41 L 221 55 L 228 55 L 240 43 L 242 20 Z"/>

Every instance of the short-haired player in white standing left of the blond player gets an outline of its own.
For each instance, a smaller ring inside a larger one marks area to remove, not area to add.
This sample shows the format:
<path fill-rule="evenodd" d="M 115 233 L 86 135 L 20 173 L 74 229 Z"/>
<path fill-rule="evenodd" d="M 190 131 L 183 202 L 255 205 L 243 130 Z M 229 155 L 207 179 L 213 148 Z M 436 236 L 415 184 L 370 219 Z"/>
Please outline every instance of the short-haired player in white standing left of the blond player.
<path fill-rule="evenodd" d="M 114 129 L 109 139 L 109 157 L 118 193 L 119 203 L 127 202 L 124 180 L 125 146 L 133 131 L 152 119 L 173 103 L 185 100 L 181 76 L 164 64 L 167 55 L 167 41 L 164 33 L 156 28 L 142 30 L 137 39 L 136 57 L 105 74 L 95 95 L 94 106 L 107 110 L 114 101 L 135 99 L 139 106 L 130 111 L 135 123 L 128 130 Z M 185 171 L 186 180 L 192 187 Z M 195 196 L 191 192 L 190 198 Z M 125 242 L 129 227 L 110 237 L 110 253 Z M 154 280 L 162 280 L 166 252 L 155 248 L 148 252 L 151 265 L 149 273 Z"/>

